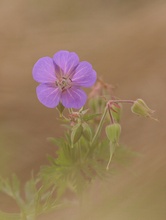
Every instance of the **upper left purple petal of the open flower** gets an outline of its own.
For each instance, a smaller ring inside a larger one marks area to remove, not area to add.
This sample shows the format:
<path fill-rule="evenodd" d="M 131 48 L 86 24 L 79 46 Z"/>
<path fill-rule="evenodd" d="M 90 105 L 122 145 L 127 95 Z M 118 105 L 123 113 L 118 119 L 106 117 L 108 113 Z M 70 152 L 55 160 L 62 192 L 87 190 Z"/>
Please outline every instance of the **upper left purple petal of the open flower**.
<path fill-rule="evenodd" d="M 55 82 L 55 67 L 53 59 L 50 57 L 40 58 L 32 70 L 33 78 L 39 83 Z"/>

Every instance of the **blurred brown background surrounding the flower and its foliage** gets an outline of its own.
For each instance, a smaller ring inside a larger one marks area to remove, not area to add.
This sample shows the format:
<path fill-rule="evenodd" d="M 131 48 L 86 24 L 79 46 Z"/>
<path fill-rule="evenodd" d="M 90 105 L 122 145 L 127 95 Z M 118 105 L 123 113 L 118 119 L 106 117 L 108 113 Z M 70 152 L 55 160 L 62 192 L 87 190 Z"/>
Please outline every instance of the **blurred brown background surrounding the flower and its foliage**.
<path fill-rule="evenodd" d="M 92 188 L 84 219 L 165 220 L 165 1 L 0 0 L 1 175 L 25 181 L 54 154 L 46 139 L 61 135 L 56 111 L 38 102 L 31 72 L 40 57 L 61 49 L 92 63 L 117 96 L 143 98 L 159 118 L 136 117 L 126 106 L 121 143 L 142 156 Z M 3 211 L 12 204 L 0 195 Z M 79 219 L 76 210 L 46 219 Z"/>

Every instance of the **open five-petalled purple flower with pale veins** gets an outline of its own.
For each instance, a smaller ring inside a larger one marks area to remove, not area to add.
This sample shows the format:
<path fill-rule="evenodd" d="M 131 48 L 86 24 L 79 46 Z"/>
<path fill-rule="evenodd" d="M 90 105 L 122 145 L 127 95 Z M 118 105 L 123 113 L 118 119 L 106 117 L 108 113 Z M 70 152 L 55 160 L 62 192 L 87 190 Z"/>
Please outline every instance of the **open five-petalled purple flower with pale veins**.
<path fill-rule="evenodd" d="M 91 87 L 96 72 L 86 61 L 79 62 L 76 53 L 59 51 L 53 58 L 40 58 L 33 67 L 33 78 L 40 85 L 36 88 L 39 101 L 49 107 L 59 102 L 66 108 L 81 108 L 87 99 L 81 87 Z"/>

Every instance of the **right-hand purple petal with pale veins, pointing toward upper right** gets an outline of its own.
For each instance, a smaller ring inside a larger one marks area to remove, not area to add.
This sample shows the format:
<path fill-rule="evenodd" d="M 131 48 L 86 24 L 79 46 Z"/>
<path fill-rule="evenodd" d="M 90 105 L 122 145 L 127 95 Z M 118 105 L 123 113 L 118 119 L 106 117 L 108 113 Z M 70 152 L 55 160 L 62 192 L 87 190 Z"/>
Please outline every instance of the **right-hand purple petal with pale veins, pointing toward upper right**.
<path fill-rule="evenodd" d="M 76 86 L 91 87 L 96 82 L 96 78 L 92 65 L 83 61 L 77 66 L 72 82 Z"/>

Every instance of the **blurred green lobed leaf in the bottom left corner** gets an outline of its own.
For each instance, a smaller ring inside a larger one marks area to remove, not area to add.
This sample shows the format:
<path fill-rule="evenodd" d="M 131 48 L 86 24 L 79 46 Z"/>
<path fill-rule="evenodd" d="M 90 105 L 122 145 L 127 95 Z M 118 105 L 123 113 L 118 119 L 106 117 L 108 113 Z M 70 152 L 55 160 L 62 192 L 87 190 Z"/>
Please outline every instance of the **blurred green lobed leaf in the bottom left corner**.
<path fill-rule="evenodd" d="M 20 213 L 5 213 L 0 211 L 0 219 L 10 220 L 35 220 L 36 217 L 57 205 L 57 201 L 52 197 L 52 191 L 43 191 L 41 180 L 33 175 L 22 189 L 20 180 L 13 174 L 12 177 L 0 178 L 0 192 L 15 200 L 20 209 Z"/>

